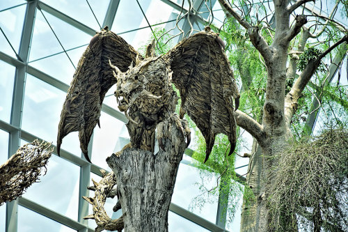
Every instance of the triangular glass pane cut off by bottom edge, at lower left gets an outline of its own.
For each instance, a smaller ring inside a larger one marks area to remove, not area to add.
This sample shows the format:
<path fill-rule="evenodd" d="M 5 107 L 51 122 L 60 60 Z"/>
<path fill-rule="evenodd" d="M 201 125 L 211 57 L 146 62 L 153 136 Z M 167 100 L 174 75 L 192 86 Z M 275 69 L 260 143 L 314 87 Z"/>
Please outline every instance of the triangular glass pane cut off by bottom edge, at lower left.
<path fill-rule="evenodd" d="M 59 231 L 59 232 L 73 232 L 74 229 L 69 228 L 55 222 L 48 217 L 40 215 L 28 208 L 18 206 L 18 230 L 21 232 L 45 232 L 45 231 Z"/>

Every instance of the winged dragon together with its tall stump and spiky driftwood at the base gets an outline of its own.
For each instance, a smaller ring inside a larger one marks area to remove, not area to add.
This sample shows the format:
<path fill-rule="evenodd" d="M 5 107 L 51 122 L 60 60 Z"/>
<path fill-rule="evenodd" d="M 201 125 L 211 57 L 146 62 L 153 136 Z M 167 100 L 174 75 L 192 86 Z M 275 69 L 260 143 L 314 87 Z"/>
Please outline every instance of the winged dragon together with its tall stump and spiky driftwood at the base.
<path fill-rule="evenodd" d="M 180 91 L 180 116 L 174 114 L 178 97 L 172 83 Z M 90 162 L 88 143 L 95 125 L 100 126 L 102 101 L 113 84 L 118 109 L 129 119 L 131 142 L 106 160 L 113 173 L 102 171 L 100 183 L 93 180 L 93 186 L 88 187 L 95 196 L 84 197 L 93 205 L 93 215 L 85 219 L 95 219 L 95 231 L 121 231 L 126 227 L 129 231 L 146 231 L 132 212 L 141 208 L 141 218 L 149 220 L 146 222 L 154 222 L 155 217 L 159 221 L 166 219 L 177 169 L 190 142 L 184 114 L 191 117 L 205 137 L 205 162 L 219 133 L 228 136 L 231 154 L 236 144 L 232 104 L 235 99 L 237 109 L 239 92 L 223 42 L 209 28 L 182 40 L 163 56 L 155 57 L 152 42 L 145 58 L 120 36 L 103 29 L 90 41 L 68 90 L 58 128 L 58 155 L 63 137 L 79 131 L 81 150 Z M 155 134 L 161 148 L 156 155 Z M 104 210 L 106 197 L 113 196 L 118 197 L 114 210 L 122 205 L 124 216 L 119 219 L 109 218 Z M 154 210 L 151 204 L 144 203 L 149 199 L 161 207 Z M 166 223 L 161 225 L 166 231 Z"/>

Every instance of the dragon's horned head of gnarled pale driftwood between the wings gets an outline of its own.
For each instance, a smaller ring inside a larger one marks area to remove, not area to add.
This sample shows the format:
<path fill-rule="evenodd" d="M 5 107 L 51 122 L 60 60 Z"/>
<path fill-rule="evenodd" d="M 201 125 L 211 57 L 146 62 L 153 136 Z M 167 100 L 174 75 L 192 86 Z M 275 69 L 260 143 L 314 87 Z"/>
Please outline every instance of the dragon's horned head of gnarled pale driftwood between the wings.
<path fill-rule="evenodd" d="M 117 79 L 115 96 L 118 109 L 133 123 L 139 123 L 136 112 L 150 122 L 163 121 L 175 111 L 177 95 L 171 84 L 171 70 L 164 59 L 148 57 L 129 66 L 127 72 L 121 72 L 110 63 Z M 128 114 L 129 113 L 129 114 Z M 133 116 L 134 117 L 133 117 Z"/>

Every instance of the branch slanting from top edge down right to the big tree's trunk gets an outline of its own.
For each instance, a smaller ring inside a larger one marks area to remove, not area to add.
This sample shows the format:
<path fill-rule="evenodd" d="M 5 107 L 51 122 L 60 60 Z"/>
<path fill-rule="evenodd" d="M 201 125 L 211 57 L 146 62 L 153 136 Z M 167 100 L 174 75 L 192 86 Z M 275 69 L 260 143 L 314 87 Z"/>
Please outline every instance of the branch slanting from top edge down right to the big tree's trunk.
<path fill-rule="evenodd" d="M 241 24 L 248 31 L 249 38 L 254 47 L 258 49 L 264 61 L 266 61 L 266 63 L 269 63 L 269 59 L 271 57 L 271 48 L 259 33 L 258 27 L 252 26 L 251 24 L 246 22 L 246 20 L 242 19 L 242 17 L 232 9 L 232 7 L 226 2 L 226 0 L 219 0 L 219 3 L 223 8 L 225 8 L 225 10 L 228 11 L 228 13 L 235 17 L 239 24 Z"/>

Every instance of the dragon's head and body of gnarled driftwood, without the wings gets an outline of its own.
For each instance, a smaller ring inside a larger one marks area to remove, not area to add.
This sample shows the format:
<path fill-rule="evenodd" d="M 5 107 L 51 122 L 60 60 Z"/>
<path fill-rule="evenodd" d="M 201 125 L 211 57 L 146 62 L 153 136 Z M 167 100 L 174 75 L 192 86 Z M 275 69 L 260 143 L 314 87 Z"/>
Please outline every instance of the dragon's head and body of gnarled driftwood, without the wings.
<path fill-rule="evenodd" d="M 116 68 L 120 111 L 129 118 L 127 129 L 132 148 L 155 147 L 155 129 L 175 111 L 177 95 L 171 83 L 171 70 L 161 57 L 137 61 L 136 66 L 120 72 Z"/>

